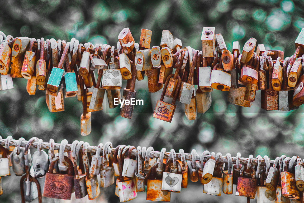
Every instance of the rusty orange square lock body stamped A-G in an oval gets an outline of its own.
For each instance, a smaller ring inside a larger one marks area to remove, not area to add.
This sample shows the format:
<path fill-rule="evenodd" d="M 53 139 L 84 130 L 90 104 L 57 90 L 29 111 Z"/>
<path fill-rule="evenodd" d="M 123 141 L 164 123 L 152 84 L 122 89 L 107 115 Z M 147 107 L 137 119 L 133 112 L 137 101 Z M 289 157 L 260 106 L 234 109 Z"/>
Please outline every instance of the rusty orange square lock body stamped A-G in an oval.
<path fill-rule="evenodd" d="M 157 100 L 153 117 L 171 123 L 176 105 Z"/>

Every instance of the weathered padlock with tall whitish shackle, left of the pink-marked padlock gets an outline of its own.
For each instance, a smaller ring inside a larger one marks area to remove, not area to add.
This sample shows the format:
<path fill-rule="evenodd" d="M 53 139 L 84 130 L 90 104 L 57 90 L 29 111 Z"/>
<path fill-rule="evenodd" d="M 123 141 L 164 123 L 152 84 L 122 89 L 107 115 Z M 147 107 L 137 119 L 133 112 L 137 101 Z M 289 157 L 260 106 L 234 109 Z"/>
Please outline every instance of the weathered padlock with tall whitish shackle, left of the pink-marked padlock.
<path fill-rule="evenodd" d="M 106 142 L 102 154 L 102 170 L 100 170 L 100 187 L 109 187 L 114 184 L 114 169 L 112 165 L 111 142 Z M 107 164 L 107 155 L 109 156 L 109 164 Z"/>

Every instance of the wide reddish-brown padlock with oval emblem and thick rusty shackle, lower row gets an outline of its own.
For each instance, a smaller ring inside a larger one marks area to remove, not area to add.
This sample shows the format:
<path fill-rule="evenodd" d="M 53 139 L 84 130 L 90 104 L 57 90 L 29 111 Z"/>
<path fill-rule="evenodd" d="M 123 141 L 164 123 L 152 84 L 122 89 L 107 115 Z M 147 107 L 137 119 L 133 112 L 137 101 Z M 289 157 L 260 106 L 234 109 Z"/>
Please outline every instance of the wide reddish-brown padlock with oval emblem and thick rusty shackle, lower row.
<path fill-rule="evenodd" d="M 74 187 L 73 163 L 68 157 L 64 160 L 69 164 L 67 174 L 53 173 L 54 165 L 59 157 L 53 158 L 49 171 L 45 176 L 45 187 L 43 196 L 55 199 L 71 199 Z"/>

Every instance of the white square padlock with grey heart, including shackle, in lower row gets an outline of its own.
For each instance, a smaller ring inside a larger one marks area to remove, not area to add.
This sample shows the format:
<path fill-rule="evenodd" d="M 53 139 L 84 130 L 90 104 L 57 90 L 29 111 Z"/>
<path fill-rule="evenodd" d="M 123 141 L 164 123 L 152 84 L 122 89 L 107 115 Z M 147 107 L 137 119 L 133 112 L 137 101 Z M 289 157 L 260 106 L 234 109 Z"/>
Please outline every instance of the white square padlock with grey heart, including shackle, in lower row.
<path fill-rule="evenodd" d="M 165 171 L 163 173 L 161 190 L 166 192 L 181 192 L 181 166 L 176 162 L 176 153 L 171 149 L 172 161 L 167 162 Z"/>

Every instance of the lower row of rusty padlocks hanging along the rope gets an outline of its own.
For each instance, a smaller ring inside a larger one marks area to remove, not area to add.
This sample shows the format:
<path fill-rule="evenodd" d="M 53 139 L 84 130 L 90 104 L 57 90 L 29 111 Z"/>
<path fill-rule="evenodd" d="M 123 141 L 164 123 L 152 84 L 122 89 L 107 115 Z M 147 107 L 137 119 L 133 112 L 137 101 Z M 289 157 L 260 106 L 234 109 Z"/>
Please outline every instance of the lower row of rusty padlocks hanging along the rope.
<path fill-rule="evenodd" d="M 187 187 L 188 179 L 201 183 L 203 193 L 217 196 L 222 192 L 233 194 L 234 184 L 235 195 L 247 197 L 247 202 L 255 198 L 257 203 L 304 201 L 304 163 L 298 156 L 282 155 L 269 160 L 268 156 L 258 155 L 253 161 L 252 155 L 241 158 L 240 153 L 236 157 L 229 153 L 222 157 L 221 153 L 204 151 L 198 156 L 193 149 L 191 154 L 186 154 L 187 161 L 183 149 L 179 153 L 174 149 L 166 153 L 163 148 L 156 156 L 152 147 L 136 149 L 118 145 L 112 148 L 112 143 L 107 142 L 91 147 L 88 152 L 90 145 L 87 142 L 74 141 L 67 150 L 67 140 L 63 140 L 60 145 L 56 144 L 58 153 L 54 150 L 53 139 L 43 143 L 36 137 L 25 141 L 24 138 L 12 140 L 8 136 L 6 139 L 0 137 L 1 141 L 0 195 L 3 194 L 1 178 L 10 176 L 12 168 L 16 176 L 22 176 L 22 203 L 36 198 L 41 203 L 42 196 L 71 202 L 75 198 L 93 200 L 98 197 L 100 187 L 114 183 L 115 194 L 121 202 L 135 199 L 138 192 L 145 191 L 147 200 L 170 201 L 171 192 L 180 193 L 181 188 Z M 31 156 L 29 148 L 33 142 L 37 151 Z M 48 148 L 49 154 L 43 148 Z"/>

